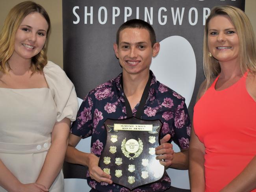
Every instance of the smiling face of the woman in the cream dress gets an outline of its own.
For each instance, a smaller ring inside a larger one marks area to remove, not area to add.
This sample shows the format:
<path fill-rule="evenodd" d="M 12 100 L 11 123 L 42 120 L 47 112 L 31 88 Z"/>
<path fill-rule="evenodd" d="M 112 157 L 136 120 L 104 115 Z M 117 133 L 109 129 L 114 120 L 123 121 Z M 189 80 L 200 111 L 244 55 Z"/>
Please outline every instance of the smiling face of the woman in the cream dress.
<path fill-rule="evenodd" d="M 48 24 L 37 12 L 30 13 L 21 22 L 14 42 L 13 59 L 31 60 L 44 47 Z"/>

